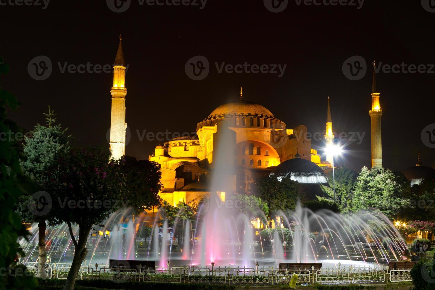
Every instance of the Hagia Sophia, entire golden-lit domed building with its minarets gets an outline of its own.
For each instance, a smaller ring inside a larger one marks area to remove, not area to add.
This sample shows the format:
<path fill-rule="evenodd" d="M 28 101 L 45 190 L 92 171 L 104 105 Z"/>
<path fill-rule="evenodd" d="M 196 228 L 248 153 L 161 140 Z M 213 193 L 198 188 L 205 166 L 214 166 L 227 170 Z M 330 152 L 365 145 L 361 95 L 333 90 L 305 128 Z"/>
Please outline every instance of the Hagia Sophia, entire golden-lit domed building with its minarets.
<path fill-rule="evenodd" d="M 114 83 L 110 123 L 110 151 L 112 156 L 125 155 L 125 60 L 120 37 L 114 62 Z M 382 167 L 380 93 L 377 91 L 375 71 L 371 92 L 371 164 Z M 326 108 L 325 143 L 333 145 L 334 134 L 330 102 Z M 249 194 L 251 185 L 259 177 L 275 174 L 278 179 L 291 176 L 301 184 L 325 183 L 326 172 L 333 167 L 333 156 L 327 153 L 325 160 L 317 150 L 311 148 L 311 140 L 304 138 L 308 128 L 302 124 L 288 127 L 283 121 L 260 104 L 246 100 L 243 89 L 236 102 L 225 103 L 214 109 L 204 120 L 197 123 L 196 134 L 177 137 L 159 144 L 149 155 L 149 160 L 161 168 L 161 197 L 173 206 L 177 203 L 191 203 L 197 198 L 210 194 L 207 180 L 213 176 L 213 159 L 216 158 L 217 140 L 220 138 L 222 121 L 231 130 L 234 152 L 234 182 L 232 193 Z M 420 161 L 417 169 L 410 168 L 406 177 L 417 180 L 422 172 L 429 173 L 430 167 L 423 167 Z M 433 170 L 435 172 L 435 170 Z"/>

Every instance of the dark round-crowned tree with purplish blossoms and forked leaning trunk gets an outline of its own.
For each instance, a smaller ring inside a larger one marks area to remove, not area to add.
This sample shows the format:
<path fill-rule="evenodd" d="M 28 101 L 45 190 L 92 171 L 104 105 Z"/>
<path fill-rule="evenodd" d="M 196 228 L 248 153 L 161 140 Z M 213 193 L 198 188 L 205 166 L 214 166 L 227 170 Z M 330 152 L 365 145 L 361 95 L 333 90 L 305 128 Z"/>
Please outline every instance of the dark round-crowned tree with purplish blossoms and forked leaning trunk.
<path fill-rule="evenodd" d="M 57 198 L 50 214 L 68 225 L 75 246 L 74 259 L 64 289 L 74 289 L 86 243 L 94 224 L 126 203 L 126 182 L 110 151 L 100 148 L 70 150 L 46 174 L 47 192 Z M 137 210 L 137 209 L 136 209 Z M 72 224 L 79 226 L 78 240 Z"/>

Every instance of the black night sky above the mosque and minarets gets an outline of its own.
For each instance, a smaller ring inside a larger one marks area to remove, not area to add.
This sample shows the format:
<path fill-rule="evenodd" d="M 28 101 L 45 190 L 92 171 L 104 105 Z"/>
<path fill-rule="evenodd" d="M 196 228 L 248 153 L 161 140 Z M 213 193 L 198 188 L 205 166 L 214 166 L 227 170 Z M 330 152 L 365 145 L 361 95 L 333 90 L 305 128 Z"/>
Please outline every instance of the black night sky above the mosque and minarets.
<path fill-rule="evenodd" d="M 2 0 L 3 1 L 3 0 Z M 10 1 L 10 0 L 8 0 Z M 267 107 L 288 128 L 305 124 L 325 128 L 331 97 L 336 132 L 365 132 L 361 144 L 346 148 L 348 167 L 370 165 L 371 69 L 361 80 L 348 80 L 343 62 L 361 55 L 387 64 L 433 64 L 435 13 L 420 1 L 366 0 L 349 6 L 298 6 L 290 0 L 281 13 L 260 0 L 208 0 L 192 6 L 140 6 L 132 0 L 114 13 L 103 0 L 51 0 L 46 9 L 0 6 L 0 53 L 10 64 L 2 86 L 22 103 L 10 113 L 27 130 L 43 123 L 50 106 L 74 136 L 74 144 L 108 146 L 111 73 L 60 73 L 57 62 L 112 64 L 118 35 L 123 35 L 127 117 L 131 142 L 127 154 L 147 159 L 159 141 L 140 141 L 142 132 L 191 132 L 222 103 L 237 100 L 240 86 L 247 100 Z M 6 18 L 6 19 L 5 19 Z M 45 55 L 53 63 L 47 80 L 33 80 L 27 65 Z M 184 65 L 207 57 L 210 74 L 187 77 Z M 277 74 L 218 73 L 214 62 L 287 64 Z M 435 69 L 433 69 L 434 71 Z M 415 165 L 417 152 L 431 166 L 435 150 L 420 133 L 434 120 L 435 73 L 378 73 L 381 93 L 383 164 L 392 170 Z M 313 142 L 312 147 L 321 146 Z"/>

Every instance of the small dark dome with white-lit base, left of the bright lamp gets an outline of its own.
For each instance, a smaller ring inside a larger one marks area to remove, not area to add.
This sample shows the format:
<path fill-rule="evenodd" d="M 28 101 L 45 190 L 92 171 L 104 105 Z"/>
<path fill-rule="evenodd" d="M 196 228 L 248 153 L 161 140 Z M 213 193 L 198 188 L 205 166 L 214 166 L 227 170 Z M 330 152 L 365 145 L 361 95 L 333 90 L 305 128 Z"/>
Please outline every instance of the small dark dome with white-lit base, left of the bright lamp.
<path fill-rule="evenodd" d="M 279 164 L 271 174 L 279 180 L 290 175 L 291 180 L 300 183 L 325 183 L 327 178 L 316 163 L 303 158 L 293 158 Z"/>

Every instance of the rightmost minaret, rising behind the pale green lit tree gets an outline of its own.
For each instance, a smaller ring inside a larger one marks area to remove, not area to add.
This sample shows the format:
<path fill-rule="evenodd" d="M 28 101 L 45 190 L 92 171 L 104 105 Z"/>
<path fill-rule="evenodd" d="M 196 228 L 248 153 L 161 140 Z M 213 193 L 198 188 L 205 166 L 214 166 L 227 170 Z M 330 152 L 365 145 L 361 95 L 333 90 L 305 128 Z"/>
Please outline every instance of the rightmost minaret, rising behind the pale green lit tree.
<path fill-rule="evenodd" d="M 382 138 L 381 116 L 382 109 L 379 103 L 379 93 L 376 88 L 376 62 L 373 62 L 373 84 L 371 85 L 371 167 L 382 167 Z"/>

